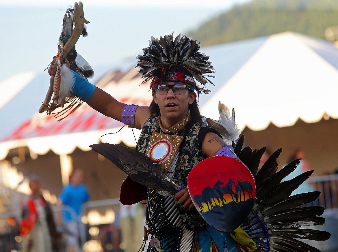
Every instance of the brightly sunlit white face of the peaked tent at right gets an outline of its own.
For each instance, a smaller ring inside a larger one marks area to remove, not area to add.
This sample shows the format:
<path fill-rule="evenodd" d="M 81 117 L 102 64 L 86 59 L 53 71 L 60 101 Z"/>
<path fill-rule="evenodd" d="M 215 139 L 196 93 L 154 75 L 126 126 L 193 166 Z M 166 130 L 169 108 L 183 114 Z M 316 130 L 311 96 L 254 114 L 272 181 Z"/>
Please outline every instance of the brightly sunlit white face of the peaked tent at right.
<path fill-rule="evenodd" d="M 223 55 L 226 57 L 226 55 Z M 226 66 L 224 70 L 226 71 Z M 202 114 L 218 117 L 218 101 L 234 107 L 241 128 L 264 130 L 338 118 L 338 49 L 306 35 L 269 36 L 240 69 L 214 92 Z"/>

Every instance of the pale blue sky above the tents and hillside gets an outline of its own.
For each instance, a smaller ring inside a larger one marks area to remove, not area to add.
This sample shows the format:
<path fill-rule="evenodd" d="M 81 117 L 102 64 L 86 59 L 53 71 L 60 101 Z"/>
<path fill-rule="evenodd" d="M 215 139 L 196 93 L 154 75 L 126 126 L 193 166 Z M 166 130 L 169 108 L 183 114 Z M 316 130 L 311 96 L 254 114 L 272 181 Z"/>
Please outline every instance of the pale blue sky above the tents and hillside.
<path fill-rule="evenodd" d="M 135 59 L 148 46 L 151 36 L 195 30 L 235 4 L 249 1 L 83 0 L 84 17 L 90 23 L 88 36 L 79 38 L 76 51 L 95 71 Z M 63 16 L 74 3 L 72 0 L 0 1 L 0 84 L 19 73 L 43 73 L 57 53 Z"/>

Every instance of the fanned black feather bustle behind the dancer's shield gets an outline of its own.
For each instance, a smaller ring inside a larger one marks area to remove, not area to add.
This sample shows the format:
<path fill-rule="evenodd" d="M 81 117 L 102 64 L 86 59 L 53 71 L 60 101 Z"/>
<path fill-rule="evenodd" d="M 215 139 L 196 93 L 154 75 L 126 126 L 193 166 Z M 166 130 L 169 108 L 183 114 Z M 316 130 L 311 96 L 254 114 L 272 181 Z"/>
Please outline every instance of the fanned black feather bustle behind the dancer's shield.
<path fill-rule="evenodd" d="M 265 149 L 252 150 L 248 146 L 242 149 L 243 143 L 244 136 L 238 140 L 234 152 L 247 167 L 251 167 L 250 171 L 255 173 L 255 167 Z M 305 203 L 313 202 L 319 196 L 319 192 L 290 196 L 291 192 L 303 183 L 312 171 L 282 182 L 288 174 L 295 170 L 299 160 L 291 162 L 276 172 L 276 160 L 280 152 L 281 149 L 273 153 L 263 165 L 263 171 L 261 169 L 256 174 L 255 181 L 259 186 L 256 185 L 255 205 L 247 221 L 241 227 L 262 251 L 320 252 L 311 245 L 295 240 L 295 238 L 306 237 L 310 240 L 324 241 L 330 237 L 330 233 L 325 231 L 299 228 L 325 223 L 325 219 L 320 217 L 324 211 L 323 207 L 299 207 Z"/>

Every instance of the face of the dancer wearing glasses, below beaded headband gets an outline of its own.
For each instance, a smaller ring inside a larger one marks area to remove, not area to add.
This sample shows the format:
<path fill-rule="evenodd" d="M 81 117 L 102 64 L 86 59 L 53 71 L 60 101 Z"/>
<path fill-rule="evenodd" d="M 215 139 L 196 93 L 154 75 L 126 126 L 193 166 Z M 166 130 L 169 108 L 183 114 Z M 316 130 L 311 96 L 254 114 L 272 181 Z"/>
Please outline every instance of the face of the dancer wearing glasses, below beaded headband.
<path fill-rule="evenodd" d="M 160 85 L 161 84 L 173 86 L 175 84 L 183 83 L 167 81 L 160 83 Z M 154 102 L 159 105 L 161 117 L 166 117 L 170 120 L 177 119 L 178 122 L 188 113 L 189 104 L 192 104 L 196 100 L 197 95 L 194 92 L 189 92 L 187 88 L 184 90 L 185 91 L 181 94 L 175 94 L 172 88 L 169 88 L 168 92 L 165 92 L 165 94 L 159 94 L 156 90 L 152 93 Z"/>

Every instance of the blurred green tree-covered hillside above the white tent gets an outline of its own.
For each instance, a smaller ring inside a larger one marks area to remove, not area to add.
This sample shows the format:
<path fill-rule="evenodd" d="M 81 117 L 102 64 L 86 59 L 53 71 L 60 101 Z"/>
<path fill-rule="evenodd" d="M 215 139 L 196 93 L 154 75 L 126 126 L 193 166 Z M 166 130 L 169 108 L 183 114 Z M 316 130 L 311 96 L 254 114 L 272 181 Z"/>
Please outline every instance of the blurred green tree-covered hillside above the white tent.
<path fill-rule="evenodd" d="M 338 25 L 336 0 L 254 0 L 234 6 L 188 35 L 203 46 L 284 31 L 325 38 L 325 29 L 334 25 Z"/>

